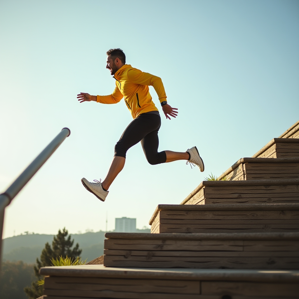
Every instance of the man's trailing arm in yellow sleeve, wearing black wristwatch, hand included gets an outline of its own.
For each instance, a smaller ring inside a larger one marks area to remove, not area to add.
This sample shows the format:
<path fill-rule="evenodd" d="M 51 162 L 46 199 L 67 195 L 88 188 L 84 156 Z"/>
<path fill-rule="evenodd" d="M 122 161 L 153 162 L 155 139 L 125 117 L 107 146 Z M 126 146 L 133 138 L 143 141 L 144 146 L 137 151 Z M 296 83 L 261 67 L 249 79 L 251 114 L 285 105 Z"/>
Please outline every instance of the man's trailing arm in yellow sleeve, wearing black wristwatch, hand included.
<path fill-rule="evenodd" d="M 160 77 L 154 76 L 149 73 L 144 73 L 136 68 L 133 68 L 128 71 L 128 78 L 132 83 L 152 86 L 158 94 L 161 105 L 163 102 L 167 102 L 165 89 Z M 166 118 L 169 119 L 169 116 L 176 118 L 177 114 L 179 113 L 178 111 L 176 111 L 178 110 L 177 108 L 172 108 L 168 104 L 164 104 L 162 106 L 162 110 Z"/>

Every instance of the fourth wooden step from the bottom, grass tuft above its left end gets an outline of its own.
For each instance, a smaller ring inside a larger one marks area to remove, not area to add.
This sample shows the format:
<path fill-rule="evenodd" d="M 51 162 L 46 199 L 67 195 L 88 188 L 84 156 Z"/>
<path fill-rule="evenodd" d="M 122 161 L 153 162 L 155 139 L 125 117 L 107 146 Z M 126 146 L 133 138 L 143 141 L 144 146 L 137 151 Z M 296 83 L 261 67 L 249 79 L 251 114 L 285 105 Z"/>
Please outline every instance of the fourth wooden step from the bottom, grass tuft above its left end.
<path fill-rule="evenodd" d="M 299 203 L 299 179 L 203 181 L 181 205 Z"/>

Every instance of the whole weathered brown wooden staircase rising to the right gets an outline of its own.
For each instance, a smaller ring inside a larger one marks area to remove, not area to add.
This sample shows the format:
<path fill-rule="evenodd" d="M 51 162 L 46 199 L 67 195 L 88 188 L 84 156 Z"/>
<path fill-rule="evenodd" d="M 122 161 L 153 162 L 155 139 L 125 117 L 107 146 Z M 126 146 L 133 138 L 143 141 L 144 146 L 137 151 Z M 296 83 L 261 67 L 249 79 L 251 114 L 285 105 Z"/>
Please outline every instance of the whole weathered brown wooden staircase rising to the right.
<path fill-rule="evenodd" d="M 104 265 L 41 268 L 45 298 L 299 298 L 299 121 L 149 224 L 106 233 Z"/>

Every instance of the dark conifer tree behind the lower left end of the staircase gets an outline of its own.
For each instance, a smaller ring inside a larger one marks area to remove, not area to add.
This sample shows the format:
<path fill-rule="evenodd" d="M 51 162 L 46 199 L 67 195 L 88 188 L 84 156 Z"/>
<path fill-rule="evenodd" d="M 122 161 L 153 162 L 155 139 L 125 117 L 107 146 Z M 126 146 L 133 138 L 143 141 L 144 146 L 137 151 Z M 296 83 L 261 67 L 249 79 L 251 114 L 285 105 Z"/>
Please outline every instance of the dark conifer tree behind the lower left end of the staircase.
<path fill-rule="evenodd" d="M 52 247 L 47 242 L 45 244 L 45 248 L 42 250 L 42 254 L 40 255 L 40 260 L 36 259 L 36 266 L 34 266 L 34 272 L 37 279 L 41 279 L 39 275 L 39 268 L 46 266 L 53 266 L 51 264 L 51 258 L 59 258 L 62 257 L 70 257 L 71 259 L 75 259 L 80 256 L 82 250 L 79 249 L 79 244 L 77 243 L 74 248 L 74 239 L 71 240 L 71 235 L 68 236 L 68 231 L 63 228 L 62 231 L 58 231 L 57 236 L 54 236 Z M 42 287 L 38 287 L 36 281 L 31 283 L 31 287 L 26 287 L 24 289 L 27 296 L 30 299 L 35 299 L 42 296 Z"/>

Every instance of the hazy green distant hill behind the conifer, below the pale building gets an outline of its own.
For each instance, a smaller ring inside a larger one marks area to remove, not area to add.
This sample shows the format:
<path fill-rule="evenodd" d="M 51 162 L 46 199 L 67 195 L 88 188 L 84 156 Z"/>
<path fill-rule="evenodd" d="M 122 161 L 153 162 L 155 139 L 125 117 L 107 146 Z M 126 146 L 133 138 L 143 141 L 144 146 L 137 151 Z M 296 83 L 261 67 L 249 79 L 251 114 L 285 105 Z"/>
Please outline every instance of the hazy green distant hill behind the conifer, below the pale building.
<path fill-rule="evenodd" d="M 150 229 L 138 230 L 138 233 L 150 233 Z M 54 235 L 28 234 L 3 239 L 3 260 L 23 261 L 24 263 L 35 263 L 40 257 L 45 243 L 52 244 Z M 82 259 L 91 261 L 104 251 L 105 232 L 88 232 L 85 234 L 71 234 L 74 245 L 79 243 L 82 249 Z"/>

